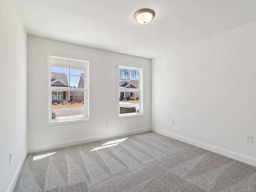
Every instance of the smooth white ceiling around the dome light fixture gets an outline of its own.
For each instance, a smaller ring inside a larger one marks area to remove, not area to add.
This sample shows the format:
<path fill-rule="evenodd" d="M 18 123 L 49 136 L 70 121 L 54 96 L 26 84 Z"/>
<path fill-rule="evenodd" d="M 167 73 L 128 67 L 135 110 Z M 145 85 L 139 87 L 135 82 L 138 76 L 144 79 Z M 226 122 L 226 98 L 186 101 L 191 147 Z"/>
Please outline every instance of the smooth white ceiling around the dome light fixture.
<path fill-rule="evenodd" d="M 156 58 L 256 20 L 256 0 L 17 0 L 28 34 Z M 134 13 L 156 13 L 139 24 Z"/>

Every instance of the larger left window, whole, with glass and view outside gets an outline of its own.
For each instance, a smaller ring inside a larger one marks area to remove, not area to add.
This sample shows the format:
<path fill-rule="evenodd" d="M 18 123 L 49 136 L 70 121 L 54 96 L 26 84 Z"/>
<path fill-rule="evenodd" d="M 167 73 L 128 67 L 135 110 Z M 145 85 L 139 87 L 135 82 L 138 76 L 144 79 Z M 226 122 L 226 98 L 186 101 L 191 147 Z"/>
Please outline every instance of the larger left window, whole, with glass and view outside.
<path fill-rule="evenodd" d="M 89 120 L 89 61 L 49 56 L 48 123 Z"/>

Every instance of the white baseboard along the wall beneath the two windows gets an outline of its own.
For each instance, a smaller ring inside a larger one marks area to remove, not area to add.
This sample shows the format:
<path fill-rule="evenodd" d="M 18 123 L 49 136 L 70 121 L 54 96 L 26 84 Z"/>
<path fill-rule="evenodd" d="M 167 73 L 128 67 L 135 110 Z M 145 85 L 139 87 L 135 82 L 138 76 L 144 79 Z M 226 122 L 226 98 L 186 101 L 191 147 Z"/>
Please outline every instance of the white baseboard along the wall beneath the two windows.
<path fill-rule="evenodd" d="M 41 146 L 31 146 L 28 148 L 28 153 L 35 153 L 35 152 L 47 151 L 47 150 L 52 150 L 52 149 L 57 149 L 57 148 L 62 148 L 62 147 L 74 146 L 74 145 L 79 145 L 79 144 L 84 144 L 84 143 L 94 142 L 94 141 L 100 141 L 100 140 L 113 138 L 113 137 L 147 132 L 150 130 L 151 130 L 151 127 L 146 127 L 146 128 L 140 128 L 140 129 L 119 132 L 119 133 L 115 133 L 115 134 L 112 133 L 112 134 L 108 134 L 108 135 L 98 135 L 98 136 L 92 136 L 92 137 L 86 137 L 86 138 L 79 138 L 79 139 L 56 142 L 56 143 L 51 143 L 51 144 L 46 144 L 46 145 L 41 145 Z"/>

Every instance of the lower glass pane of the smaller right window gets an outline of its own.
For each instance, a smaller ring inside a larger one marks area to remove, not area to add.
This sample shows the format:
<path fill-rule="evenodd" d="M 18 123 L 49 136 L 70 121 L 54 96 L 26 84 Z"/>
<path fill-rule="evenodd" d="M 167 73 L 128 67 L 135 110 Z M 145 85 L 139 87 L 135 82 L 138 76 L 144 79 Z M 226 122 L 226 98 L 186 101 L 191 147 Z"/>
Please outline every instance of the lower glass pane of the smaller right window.
<path fill-rule="evenodd" d="M 140 92 L 120 92 L 120 114 L 140 112 Z"/>

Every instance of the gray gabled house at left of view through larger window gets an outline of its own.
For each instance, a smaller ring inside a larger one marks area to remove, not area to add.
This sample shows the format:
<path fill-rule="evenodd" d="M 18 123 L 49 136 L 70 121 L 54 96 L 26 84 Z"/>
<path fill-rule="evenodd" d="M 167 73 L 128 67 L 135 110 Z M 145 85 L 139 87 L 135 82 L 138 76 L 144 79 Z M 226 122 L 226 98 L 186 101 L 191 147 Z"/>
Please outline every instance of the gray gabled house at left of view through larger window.
<path fill-rule="evenodd" d="M 52 72 L 51 86 L 54 88 L 68 87 L 65 73 Z M 69 91 L 52 91 L 52 103 L 70 102 Z"/>

